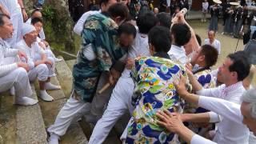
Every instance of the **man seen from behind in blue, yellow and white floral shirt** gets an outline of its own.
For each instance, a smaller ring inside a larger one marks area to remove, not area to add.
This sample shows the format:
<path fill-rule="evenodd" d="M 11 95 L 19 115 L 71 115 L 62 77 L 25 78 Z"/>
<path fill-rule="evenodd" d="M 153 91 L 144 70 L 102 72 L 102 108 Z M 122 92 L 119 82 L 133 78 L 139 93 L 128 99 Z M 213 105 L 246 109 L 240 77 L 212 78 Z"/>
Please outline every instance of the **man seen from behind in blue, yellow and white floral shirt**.
<path fill-rule="evenodd" d="M 173 81 L 186 76 L 185 68 L 170 60 L 170 32 L 155 26 L 148 35 L 152 57 L 135 59 L 131 77 L 135 88 L 132 103 L 135 110 L 127 125 L 126 143 L 170 143 L 177 137 L 158 126 L 156 112 L 170 110 L 181 113 L 184 101 L 178 97 Z"/>

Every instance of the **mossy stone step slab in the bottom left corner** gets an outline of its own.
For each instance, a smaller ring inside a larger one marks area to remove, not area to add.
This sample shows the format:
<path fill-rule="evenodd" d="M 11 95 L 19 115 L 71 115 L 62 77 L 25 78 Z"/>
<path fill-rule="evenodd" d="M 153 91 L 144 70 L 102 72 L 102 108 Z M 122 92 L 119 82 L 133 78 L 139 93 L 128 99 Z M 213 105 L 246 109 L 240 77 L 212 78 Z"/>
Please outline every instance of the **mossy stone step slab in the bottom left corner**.
<path fill-rule="evenodd" d="M 33 97 L 37 99 L 34 85 L 31 84 Z M 34 106 L 13 105 L 14 96 L 8 92 L 1 96 L 0 143 L 47 143 L 46 129 L 38 104 Z"/>

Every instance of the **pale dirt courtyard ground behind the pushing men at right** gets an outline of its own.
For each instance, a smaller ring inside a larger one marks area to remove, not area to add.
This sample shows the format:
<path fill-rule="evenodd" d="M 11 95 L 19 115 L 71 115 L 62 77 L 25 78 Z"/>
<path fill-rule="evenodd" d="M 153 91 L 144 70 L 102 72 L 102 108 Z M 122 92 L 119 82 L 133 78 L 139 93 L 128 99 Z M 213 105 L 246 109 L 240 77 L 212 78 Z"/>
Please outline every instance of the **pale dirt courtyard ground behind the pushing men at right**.
<path fill-rule="evenodd" d="M 190 20 L 189 23 L 190 26 L 194 28 L 195 33 L 201 36 L 203 44 L 204 39 L 207 38 L 207 28 L 209 25 L 209 21 L 202 23 L 199 20 Z M 219 22 L 218 33 L 216 34 L 216 38 L 221 42 L 221 54 L 219 55 L 218 62 L 214 66 L 214 69 L 222 65 L 222 62 L 224 61 L 228 54 L 244 49 L 242 39 L 239 39 L 238 41 L 238 38 L 231 38 L 230 35 L 222 35 L 222 30 L 222 22 Z M 237 44 L 238 48 L 236 50 Z M 254 76 L 253 78 L 253 86 L 256 86 L 256 76 Z"/>

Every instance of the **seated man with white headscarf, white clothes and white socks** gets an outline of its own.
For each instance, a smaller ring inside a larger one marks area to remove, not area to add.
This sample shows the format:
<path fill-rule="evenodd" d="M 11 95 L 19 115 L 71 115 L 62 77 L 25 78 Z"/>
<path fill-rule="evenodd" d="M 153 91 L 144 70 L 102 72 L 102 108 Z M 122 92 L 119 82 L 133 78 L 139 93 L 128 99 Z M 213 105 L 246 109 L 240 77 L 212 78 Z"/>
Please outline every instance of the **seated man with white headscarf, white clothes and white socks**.
<path fill-rule="evenodd" d="M 38 78 L 40 94 L 39 97 L 44 101 L 53 101 L 46 90 L 58 90 L 60 86 L 55 86 L 50 83 L 50 77 L 54 76 L 54 60 L 46 58 L 46 54 L 42 48 L 38 45 L 37 31 L 34 26 L 29 24 L 23 24 L 22 35 L 23 39 L 15 46 L 16 49 L 23 50 L 28 56 L 27 62 L 30 66 L 28 72 L 30 82 L 34 82 Z"/>

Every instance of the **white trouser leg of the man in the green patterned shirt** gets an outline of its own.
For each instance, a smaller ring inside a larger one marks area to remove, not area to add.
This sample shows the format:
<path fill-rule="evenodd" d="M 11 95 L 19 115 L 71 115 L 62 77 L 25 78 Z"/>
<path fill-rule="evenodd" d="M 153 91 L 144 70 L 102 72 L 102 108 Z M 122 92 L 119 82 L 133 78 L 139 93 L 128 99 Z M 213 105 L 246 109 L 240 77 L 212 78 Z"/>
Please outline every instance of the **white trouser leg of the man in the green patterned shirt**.
<path fill-rule="evenodd" d="M 58 136 L 66 134 L 71 122 L 77 121 L 82 115 L 90 112 L 90 103 L 76 100 L 73 94 L 74 90 L 62 110 L 58 112 L 54 125 L 47 129 L 50 134 L 58 134 Z"/>

